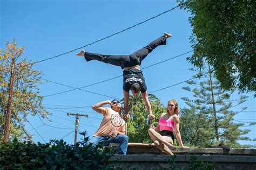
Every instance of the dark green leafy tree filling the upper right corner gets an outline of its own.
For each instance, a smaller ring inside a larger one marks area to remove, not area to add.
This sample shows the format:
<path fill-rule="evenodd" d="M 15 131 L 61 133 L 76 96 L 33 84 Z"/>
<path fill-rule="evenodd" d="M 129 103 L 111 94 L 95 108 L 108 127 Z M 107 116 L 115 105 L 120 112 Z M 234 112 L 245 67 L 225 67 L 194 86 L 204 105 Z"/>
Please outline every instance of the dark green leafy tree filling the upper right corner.
<path fill-rule="evenodd" d="M 199 68 L 208 60 L 226 90 L 256 91 L 255 1 L 178 2 L 191 12 L 194 54 L 187 60 Z"/>

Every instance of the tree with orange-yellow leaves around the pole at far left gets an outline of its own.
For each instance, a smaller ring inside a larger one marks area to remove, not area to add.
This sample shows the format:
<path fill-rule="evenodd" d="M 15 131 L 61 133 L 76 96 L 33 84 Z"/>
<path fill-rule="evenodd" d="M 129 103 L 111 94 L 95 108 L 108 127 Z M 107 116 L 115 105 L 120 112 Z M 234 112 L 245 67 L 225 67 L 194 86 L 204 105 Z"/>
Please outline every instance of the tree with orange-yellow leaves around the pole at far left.
<path fill-rule="evenodd" d="M 12 115 L 9 138 L 17 137 L 27 139 L 21 126 L 26 122 L 26 116 L 47 117 L 48 111 L 42 107 L 43 97 L 39 94 L 38 83 L 41 82 L 42 73 L 32 68 L 33 63 L 22 59 L 24 47 L 18 47 L 15 41 L 7 42 L 6 49 L 0 49 L 0 124 L 1 138 L 3 137 L 5 113 L 7 110 L 11 60 L 14 58 L 16 67 L 14 71 L 14 94 L 12 101 Z M 3 138 L 2 138 L 3 139 Z"/>

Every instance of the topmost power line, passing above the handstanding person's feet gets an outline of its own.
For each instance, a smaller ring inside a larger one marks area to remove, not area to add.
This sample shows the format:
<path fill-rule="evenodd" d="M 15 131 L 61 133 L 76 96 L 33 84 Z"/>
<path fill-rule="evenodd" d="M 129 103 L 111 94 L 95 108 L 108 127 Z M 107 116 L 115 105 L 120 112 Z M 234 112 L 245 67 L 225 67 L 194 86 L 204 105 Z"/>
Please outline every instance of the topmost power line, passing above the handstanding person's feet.
<path fill-rule="evenodd" d="M 136 26 L 138 26 L 138 25 L 140 25 L 140 24 L 146 23 L 146 22 L 148 22 L 148 21 L 151 20 L 151 19 L 157 18 L 157 17 L 163 15 L 164 13 L 170 12 L 170 11 L 172 11 L 172 10 L 178 8 L 180 5 L 181 5 L 181 4 L 177 5 L 176 7 L 172 8 L 172 9 L 170 9 L 170 10 L 167 10 L 167 11 L 162 12 L 162 13 L 160 13 L 160 14 L 157 15 L 157 16 L 154 16 L 154 17 L 151 17 L 151 18 L 149 18 L 149 19 L 146 19 L 146 20 L 144 20 L 143 22 L 140 22 L 140 23 L 138 23 L 138 24 L 135 24 L 135 25 L 133 25 L 133 26 L 130 26 L 130 27 L 128 27 L 127 29 L 124 29 L 124 30 L 122 30 L 122 31 L 116 32 L 116 33 L 114 33 L 114 34 L 112 34 L 112 35 L 110 35 L 110 36 L 107 36 L 107 37 L 105 37 L 105 38 L 102 38 L 102 39 L 100 39 L 100 40 L 91 42 L 90 44 L 87 44 L 87 45 L 85 45 L 85 46 L 82 46 L 82 47 L 73 49 L 73 50 L 71 50 L 71 51 L 69 51 L 69 52 L 66 52 L 66 53 L 63 53 L 63 54 L 59 54 L 59 55 L 52 56 L 52 57 L 50 57 L 50 58 L 48 58 L 48 59 L 36 61 L 36 62 L 34 62 L 34 63 L 32 63 L 32 64 L 39 63 L 39 62 L 43 62 L 43 61 L 50 60 L 50 59 L 53 59 L 53 58 L 57 58 L 58 56 L 62 56 L 62 55 L 65 55 L 65 54 L 74 52 L 74 51 L 76 51 L 77 49 L 81 49 L 81 48 L 84 48 L 84 47 L 86 47 L 86 46 L 90 46 L 90 45 L 92 45 L 92 44 L 95 44 L 96 42 L 99 42 L 99 41 L 102 41 L 102 40 L 104 40 L 104 39 L 113 37 L 113 36 L 115 36 L 115 35 L 117 35 L 117 34 L 119 34 L 119 33 L 122 33 L 122 32 L 124 32 L 124 31 L 126 31 L 126 30 L 132 29 L 133 27 L 136 27 Z"/>

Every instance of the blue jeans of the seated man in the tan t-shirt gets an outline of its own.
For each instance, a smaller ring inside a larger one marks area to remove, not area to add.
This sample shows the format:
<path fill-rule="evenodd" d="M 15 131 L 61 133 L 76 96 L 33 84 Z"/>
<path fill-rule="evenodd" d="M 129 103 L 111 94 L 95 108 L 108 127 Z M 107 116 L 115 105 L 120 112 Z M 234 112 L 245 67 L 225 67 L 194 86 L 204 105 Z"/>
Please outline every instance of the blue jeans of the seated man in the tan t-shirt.
<path fill-rule="evenodd" d="M 114 139 L 111 139 L 108 136 L 93 136 L 87 141 L 86 146 L 92 143 L 92 147 L 95 147 L 100 142 L 103 142 L 104 146 L 109 146 L 110 143 L 119 143 L 118 154 L 126 154 L 128 140 L 129 137 L 124 134 L 118 134 Z"/>

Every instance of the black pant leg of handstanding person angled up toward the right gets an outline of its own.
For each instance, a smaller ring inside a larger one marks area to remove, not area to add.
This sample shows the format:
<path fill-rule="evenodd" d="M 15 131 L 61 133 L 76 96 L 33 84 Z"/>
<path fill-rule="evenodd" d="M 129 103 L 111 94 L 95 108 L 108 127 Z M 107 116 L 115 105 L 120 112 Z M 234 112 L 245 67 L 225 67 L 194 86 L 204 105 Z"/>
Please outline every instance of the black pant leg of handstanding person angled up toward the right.
<path fill-rule="evenodd" d="M 142 60 L 146 58 L 147 54 L 151 53 L 153 49 L 159 45 L 166 45 L 166 38 L 164 36 L 161 36 L 158 39 L 150 42 L 149 45 L 139 49 L 137 52 L 130 54 L 130 56 L 132 58 L 138 58 L 140 62 L 142 62 Z"/>

